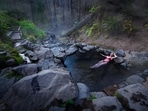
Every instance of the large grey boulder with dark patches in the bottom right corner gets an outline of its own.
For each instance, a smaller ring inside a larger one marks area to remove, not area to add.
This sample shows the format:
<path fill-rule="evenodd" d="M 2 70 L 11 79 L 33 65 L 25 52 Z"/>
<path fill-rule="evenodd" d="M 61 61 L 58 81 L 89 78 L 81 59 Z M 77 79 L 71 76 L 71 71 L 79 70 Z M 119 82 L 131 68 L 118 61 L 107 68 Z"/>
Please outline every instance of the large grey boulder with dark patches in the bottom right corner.
<path fill-rule="evenodd" d="M 118 89 L 117 94 L 124 107 L 131 111 L 147 111 L 148 89 L 137 83 Z"/>

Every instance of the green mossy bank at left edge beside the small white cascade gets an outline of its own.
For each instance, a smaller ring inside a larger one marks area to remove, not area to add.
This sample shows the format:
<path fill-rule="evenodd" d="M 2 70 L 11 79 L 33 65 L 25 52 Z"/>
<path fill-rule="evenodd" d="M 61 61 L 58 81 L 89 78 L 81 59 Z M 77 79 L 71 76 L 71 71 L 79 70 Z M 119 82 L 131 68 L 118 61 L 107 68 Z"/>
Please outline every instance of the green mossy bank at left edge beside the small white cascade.
<path fill-rule="evenodd" d="M 17 50 L 15 50 L 10 45 L 1 43 L 0 44 L 0 51 L 6 52 L 5 54 L 0 55 L 1 68 L 4 68 L 4 67 L 7 66 L 6 61 L 9 60 L 9 59 L 14 59 L 15 62 L 16 62 L 16 65 L 23 63 L 23 59 L 21 58 L 21 56 L 19 55 Z"/>

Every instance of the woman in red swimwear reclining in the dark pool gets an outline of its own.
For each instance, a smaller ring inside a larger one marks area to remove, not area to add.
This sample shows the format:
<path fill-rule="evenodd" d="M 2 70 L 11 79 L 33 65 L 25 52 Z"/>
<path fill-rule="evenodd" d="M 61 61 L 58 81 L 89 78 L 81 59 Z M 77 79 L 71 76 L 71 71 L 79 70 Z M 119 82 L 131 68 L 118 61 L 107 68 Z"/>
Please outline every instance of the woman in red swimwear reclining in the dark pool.
<path fill-rule="evenodd" d="M 113 59 L 117 58 L 117 55 L 113 52 L 110 53 L 109 56 L 105 56 L 103 54 L 100 53 L 100 55 L 102 55 L 103 57 L 105 57 L 105 59 L 99 61 L 97 64 L 91 66 L 90 68 L 94 69 L 94 68 L 98 68 L 102 65 L 105 65 L 107 64 L 108 62 L 112 61 Z"/>

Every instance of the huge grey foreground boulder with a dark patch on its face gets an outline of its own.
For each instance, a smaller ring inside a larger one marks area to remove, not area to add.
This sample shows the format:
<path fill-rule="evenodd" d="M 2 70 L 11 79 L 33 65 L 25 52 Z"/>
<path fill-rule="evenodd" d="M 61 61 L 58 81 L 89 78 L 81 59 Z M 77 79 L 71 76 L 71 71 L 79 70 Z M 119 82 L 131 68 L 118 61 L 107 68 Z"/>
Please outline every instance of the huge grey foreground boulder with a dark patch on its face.
<path fill-rule="evenodd" d="M 16 82 L 5 95 L 7 111 L 41 111 L 50 108 L 53 100 L 69 100 L 78 91 L 65 70 L 44 70 Z"/>

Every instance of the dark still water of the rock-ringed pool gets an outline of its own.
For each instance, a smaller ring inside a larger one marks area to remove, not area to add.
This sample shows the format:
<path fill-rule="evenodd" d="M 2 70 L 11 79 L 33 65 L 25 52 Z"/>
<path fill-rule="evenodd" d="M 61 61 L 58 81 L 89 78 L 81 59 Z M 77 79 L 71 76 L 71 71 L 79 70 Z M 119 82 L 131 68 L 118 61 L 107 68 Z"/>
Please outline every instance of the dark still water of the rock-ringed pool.
<path fill-rule="evenodd" d="M 77 52 L 66 58 L 65 65 L 74 80 L 85 83 L 91 91 L 101 91 L 103 88 L 119 83 L 133 74 L 113 62 L 97 69 L 90 69 L 90 66 L 101 59 L 103 58 L 97 55 L 96 52 L 86 54 Z"/>

